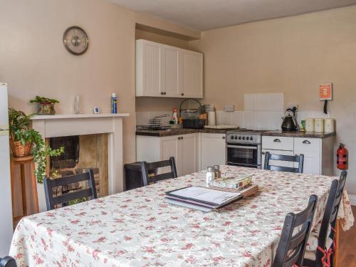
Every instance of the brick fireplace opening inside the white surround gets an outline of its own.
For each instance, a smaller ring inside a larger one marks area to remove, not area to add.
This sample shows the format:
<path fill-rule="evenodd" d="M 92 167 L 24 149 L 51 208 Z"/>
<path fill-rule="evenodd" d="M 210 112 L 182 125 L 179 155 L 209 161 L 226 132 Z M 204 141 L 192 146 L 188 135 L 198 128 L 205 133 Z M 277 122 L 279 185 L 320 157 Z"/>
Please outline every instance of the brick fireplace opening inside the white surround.
<path fill-rule="evenodd" d="M 75 135 L 51 137 L 46 140 L 53 149 L 64 147 L 65 152 L 58 157 L 48 159 L 48 174 L 63 177 L 86 172 L 92 168 L 98 197 L 108 195 L 108 135 Z M 55 189 L 55 194 L 75 191 L 86 187 L 84 183 L 70 184 L 68 187 Z"/>

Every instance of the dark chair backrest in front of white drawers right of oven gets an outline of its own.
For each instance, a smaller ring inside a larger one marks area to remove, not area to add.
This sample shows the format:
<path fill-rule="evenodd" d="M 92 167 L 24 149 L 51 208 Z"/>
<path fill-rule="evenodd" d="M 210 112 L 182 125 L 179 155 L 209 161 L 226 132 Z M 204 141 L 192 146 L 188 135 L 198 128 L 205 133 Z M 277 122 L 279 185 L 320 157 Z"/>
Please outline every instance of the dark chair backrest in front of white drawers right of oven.
<path fill-rule="evenodd" d="M 271 165 L 270 160 L 278 160 L 281 162 L 298 162 L 298 167 L 284 167 L 284 166 L 274 166 Z M 295 156 L 287 156 L 287 155 L 275 155 L 270 152 L 265 152 L 265 162 L 263 169 L 269 169 L 271 171 L 280 171 L 280 172 L 303 172 L 303 164 L 304 164 L 304 155 L 295 155 Z"/>

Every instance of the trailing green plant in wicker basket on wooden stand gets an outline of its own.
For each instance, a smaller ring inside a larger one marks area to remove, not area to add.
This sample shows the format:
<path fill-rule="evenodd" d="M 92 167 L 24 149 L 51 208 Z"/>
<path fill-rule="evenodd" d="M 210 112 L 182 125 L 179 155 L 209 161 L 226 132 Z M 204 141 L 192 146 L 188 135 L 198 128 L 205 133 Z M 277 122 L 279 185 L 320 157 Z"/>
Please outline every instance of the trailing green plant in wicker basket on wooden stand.
<path fill-rule="evenodd" d="M 43 183 L 46 173 L 47 156 L 56 157 L 64 152 L 64 147 L 53 150 L 45 145 L 43 137 L 36 130 L 30 129 L 33 114 L 26 115 L 20 110 L 9 108 L 10 146 L 14 157 L 30 155 L 32 148 L 33 160 L 37 164 L 35 175 L 37 182 Z"/>

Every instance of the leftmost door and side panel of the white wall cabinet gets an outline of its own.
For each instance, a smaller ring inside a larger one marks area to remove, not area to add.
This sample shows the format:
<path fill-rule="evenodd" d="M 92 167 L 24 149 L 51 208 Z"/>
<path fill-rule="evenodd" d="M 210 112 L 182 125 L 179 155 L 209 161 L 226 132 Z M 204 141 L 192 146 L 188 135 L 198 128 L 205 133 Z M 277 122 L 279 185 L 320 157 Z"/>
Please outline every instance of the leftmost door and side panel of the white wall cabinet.
<path fill-rule="evenodd" d="M 136 95 L 161 96 L 161 49 L 159 43 L 136 42 Z"/>

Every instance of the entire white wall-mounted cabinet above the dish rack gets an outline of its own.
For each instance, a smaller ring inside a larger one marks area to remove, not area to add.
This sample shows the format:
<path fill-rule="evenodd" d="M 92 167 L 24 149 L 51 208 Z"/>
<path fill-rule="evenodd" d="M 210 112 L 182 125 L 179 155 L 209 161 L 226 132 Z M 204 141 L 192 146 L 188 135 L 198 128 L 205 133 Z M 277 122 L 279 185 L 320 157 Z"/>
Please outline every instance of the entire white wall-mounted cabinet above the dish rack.
<path fill-rule="evenodd" d="M 203 54 L 137 40 L 136 96 L 203 98 Z"/>

